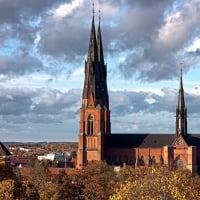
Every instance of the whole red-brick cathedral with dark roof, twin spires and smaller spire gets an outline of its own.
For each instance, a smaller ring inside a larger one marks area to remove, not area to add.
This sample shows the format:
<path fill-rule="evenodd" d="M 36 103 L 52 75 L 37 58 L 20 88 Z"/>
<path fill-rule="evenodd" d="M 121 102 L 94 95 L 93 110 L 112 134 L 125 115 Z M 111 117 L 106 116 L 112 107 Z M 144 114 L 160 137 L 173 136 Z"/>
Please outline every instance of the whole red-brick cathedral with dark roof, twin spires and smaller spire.
<path fill-rule="evenodd" d="M 117 166 L 165 165 L 200 173 L 200 134 L 188 134 L 182 71 L 179 84 L 174 133 L 111 133 L 100 19 L 96 34 L 93 14 L 80 108 L 77 168 L 104 160 Z"/>

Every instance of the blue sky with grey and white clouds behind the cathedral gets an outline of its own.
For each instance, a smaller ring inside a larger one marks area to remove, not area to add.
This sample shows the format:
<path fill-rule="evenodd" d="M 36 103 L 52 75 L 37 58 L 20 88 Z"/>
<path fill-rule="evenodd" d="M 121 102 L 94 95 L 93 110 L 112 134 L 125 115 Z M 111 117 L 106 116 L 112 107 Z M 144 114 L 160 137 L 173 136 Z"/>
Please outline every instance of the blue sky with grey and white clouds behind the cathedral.
<path fill-rule="evenodd" d="M 200 133 L 200 0 L 95 0 L 113 133 L 175 133 L 183 63 Z M 0 140 L 77 141 L 91 0 L 0 0 Z"/>

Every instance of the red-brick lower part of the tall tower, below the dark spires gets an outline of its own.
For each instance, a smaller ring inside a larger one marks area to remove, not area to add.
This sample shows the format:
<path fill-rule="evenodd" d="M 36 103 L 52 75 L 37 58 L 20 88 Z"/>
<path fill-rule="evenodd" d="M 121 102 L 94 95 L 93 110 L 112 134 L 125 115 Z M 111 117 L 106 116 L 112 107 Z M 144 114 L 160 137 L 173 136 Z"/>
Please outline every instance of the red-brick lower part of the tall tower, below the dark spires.
<path fill-rule="evenodd" d="M 94 105 L 80 109 L 78 165 L 91 160 L 104 160 L 105 133 L 110 130 L 110 112 Z"/>

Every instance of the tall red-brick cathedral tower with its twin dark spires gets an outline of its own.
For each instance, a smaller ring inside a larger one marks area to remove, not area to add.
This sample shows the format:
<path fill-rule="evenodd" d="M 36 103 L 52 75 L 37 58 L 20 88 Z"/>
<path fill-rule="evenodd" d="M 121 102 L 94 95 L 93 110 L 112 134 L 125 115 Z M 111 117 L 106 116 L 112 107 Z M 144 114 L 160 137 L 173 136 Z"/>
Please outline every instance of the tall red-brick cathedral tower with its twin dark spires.
<path fill-rule="evenodd" d="M 94 9 L 85 61 L 85 80 L 80 108 L 77 167 L 89 161 L 104 160 L 106 134 L 110 134 L 107 67 L 104 63 L 100 16 L 96 36 Z"/>

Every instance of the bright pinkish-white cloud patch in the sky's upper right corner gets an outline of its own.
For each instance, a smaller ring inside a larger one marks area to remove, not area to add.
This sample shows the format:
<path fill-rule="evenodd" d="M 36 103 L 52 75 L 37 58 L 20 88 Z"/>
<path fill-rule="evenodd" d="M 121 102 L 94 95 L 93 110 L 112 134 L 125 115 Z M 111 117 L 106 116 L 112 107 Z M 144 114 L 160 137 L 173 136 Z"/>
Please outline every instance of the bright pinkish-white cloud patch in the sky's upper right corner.
<path fill-rule="evenodd" d="M 157 48 L 170 53 L 185 45 L 199 23 L 199 11 L 199 0 L 186 1 L 182 9 L 167 16 L 165 24 L 159 30 Z"/>

